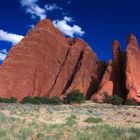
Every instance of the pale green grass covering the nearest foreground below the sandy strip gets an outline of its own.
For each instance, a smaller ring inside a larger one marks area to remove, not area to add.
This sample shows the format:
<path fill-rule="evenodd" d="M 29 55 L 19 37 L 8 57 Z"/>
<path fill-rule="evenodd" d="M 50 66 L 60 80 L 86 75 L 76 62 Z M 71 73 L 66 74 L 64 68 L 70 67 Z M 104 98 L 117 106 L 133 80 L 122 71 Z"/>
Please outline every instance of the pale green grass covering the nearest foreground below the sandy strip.
<path fill-rule="evenodd" d="M 109 125 L 92 125 L 77 129 L 75 116 L 65 124 L 46 124 L 8 117 L 0 113 L 0 138 L 2 140 L 139 140 L 139 128 L 120 128 Z M 5 123 L 6 122 L 6 123 Z"/>

